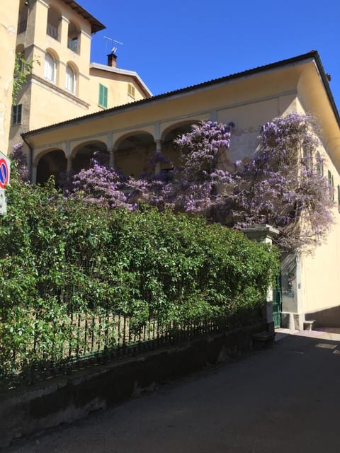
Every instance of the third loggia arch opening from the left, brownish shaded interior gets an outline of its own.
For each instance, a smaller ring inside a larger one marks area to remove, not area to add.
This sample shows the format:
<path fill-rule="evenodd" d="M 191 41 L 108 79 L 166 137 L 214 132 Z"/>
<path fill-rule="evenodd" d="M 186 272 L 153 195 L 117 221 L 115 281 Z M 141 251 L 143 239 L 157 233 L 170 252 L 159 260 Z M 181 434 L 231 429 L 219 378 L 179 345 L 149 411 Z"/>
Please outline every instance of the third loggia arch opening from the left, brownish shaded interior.
<path fill-rule="evenodd" d="M 150 132 L 135 131 L 116 140 L 114 148 L 115 168 L 137 178 L 149 171 L 149 159 L 156 151 L 156 143 Z"/>

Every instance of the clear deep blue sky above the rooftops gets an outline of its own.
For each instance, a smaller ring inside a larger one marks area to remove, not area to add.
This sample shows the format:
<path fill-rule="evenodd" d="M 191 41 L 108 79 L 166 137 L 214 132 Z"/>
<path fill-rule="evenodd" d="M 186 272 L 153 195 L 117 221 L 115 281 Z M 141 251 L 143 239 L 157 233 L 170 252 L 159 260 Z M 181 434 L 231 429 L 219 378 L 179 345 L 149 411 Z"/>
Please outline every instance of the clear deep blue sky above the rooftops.
<path fill-rule="evenodd" d="M 318 50 L 340 110 L 339 0 L 78 0 L 106 25 L 91 62 L 137 71 L 154 94 Z"/>

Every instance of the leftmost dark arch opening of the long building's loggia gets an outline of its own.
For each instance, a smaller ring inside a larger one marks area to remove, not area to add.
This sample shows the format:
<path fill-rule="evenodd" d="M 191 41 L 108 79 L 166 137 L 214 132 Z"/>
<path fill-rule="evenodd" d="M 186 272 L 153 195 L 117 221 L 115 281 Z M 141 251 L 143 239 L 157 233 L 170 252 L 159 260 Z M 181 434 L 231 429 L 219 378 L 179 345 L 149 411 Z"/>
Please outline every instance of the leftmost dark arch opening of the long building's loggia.
<path fill-rule="evenodd" d="M 67 159 L 62 149 L 46 149 L 35 157 L 37 166 L 36 183 L 46 183 L 50 176 L 55 177 L 55 184 L 59 185 L 60 176 L 67 171 Z"/>

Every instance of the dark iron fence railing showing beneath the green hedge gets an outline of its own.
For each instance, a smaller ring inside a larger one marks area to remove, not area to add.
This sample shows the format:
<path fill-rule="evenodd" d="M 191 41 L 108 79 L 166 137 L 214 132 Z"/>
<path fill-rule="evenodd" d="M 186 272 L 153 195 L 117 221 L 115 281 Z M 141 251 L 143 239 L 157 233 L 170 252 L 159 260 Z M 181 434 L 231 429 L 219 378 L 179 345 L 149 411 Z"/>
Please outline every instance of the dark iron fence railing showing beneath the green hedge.
<path fill-rule="evenodd" d="M 30 338 L 26 338 L 24 347 L 13 343 L 8 350 L 7 345 L 10 372 L 8 367 L 4 371 L 4 362 L 1 365 L 0 360 L 0 389 L 33 384 L 74 369 L 240 326 L 239 321 L 235 322 L 230 316 L 181 324 L 150 319 L 143 326 L 137 326 L 129 316 L 104 310 L 71 312 L 67 322 L 53 321 L 49 338 L 39 331 L 38 314 L 32 313 L 30 324 Z"/>

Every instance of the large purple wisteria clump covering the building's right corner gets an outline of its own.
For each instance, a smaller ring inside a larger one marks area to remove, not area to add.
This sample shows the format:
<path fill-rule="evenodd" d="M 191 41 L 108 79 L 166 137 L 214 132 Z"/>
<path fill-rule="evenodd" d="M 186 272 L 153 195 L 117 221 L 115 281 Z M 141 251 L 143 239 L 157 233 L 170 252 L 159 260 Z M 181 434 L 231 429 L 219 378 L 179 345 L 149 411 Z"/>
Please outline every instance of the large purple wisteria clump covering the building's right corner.
<path fill-rule="evenodd" d="M 308 115 L 291 113 L 261 129 L 259 149 L 232 175 L 234 226 L 271 224 L 285 249 L 310 248 L 332 223 L 332 197 L 321 168 L 321 143 Z"/>

